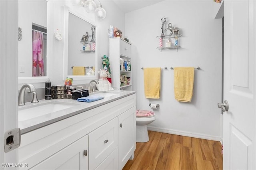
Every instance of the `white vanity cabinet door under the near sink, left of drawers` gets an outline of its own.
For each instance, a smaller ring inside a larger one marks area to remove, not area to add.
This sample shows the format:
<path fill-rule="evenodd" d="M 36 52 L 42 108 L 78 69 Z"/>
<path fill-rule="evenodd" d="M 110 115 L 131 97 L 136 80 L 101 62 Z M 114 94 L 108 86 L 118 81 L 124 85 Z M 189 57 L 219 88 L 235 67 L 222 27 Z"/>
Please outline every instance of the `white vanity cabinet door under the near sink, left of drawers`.
<path fill-rule="evenodd" d="M 88 151 L 88 135 L 80 138 L 76 142 L 68 145 L 56 154 L 40 162 L 31 169 L 40 170 L 87 170 L 88 155 L 84 155 L 84 150 Z"/>

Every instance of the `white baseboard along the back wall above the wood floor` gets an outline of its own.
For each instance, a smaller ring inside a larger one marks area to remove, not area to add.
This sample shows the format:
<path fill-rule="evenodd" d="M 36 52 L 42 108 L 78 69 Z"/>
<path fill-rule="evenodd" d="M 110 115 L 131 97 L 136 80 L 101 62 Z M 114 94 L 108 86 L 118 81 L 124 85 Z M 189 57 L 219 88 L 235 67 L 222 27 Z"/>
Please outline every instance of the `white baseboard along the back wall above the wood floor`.
<path fill-rule="evenodd" d="M 150 126 L 148 126 L 148 130 L 222 142 L 220 136 L 211 136 L 211 135 L 200 134 L 200 133 L 192 133 L 192 132 L 173 130 L 173 129 L 168 129 L 168 128 L 150 127 Z"/>

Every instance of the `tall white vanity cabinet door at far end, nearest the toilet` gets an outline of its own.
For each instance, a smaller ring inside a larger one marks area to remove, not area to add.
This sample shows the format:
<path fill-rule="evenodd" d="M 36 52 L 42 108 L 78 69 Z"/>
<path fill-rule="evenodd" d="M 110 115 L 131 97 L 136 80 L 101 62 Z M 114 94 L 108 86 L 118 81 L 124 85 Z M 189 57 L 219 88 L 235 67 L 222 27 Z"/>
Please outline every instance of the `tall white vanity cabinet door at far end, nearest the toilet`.
<path fill-rule="evenodd" d="M 121 170 L 136 148 L 136 107 L 118 116 L 118 169 Z"/>

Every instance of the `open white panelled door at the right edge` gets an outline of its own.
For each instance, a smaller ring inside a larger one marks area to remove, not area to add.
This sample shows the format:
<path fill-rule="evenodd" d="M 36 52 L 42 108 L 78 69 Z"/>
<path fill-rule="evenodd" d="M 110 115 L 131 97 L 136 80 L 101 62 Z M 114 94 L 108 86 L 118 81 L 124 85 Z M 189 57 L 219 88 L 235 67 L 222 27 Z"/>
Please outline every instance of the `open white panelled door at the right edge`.
<path fill-rule="evenodd" d="M 256 169 L 256 1 L 224 1 L 223 169 Z"/>

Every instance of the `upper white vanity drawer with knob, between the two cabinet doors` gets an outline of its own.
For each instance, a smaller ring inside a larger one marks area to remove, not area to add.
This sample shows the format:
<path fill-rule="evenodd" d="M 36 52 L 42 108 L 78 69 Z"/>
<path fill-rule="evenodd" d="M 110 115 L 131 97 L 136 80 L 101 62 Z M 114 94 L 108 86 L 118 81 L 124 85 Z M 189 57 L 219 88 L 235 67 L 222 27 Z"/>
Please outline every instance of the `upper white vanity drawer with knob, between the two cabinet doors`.
<path fill-rule="evenodd" d="M 118 118 L 88 134 L 89 169 L 95 169 L 118 146 Z"/>

